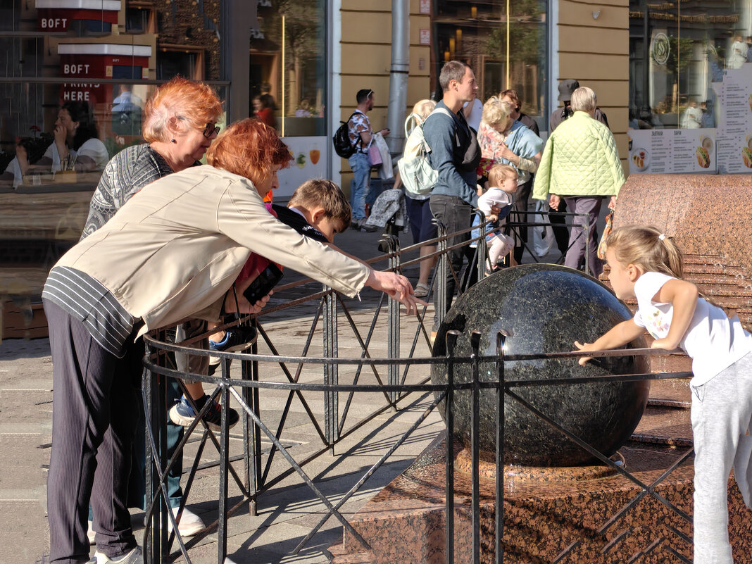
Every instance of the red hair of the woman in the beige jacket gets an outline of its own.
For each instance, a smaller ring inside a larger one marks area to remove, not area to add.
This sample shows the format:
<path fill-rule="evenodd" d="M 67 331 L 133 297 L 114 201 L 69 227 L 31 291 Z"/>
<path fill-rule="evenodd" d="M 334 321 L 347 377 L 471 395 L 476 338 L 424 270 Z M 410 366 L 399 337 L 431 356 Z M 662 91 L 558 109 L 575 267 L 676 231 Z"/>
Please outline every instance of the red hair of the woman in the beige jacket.
<path fill-rule="evenodd" d="M 244 176 L 254 184 L 267 178 L 274 165 L 285 168 L 291 160 L 293 156 L 277 130 L 250 117 L 221 132 L 206 152 L 208 164 Z"/>

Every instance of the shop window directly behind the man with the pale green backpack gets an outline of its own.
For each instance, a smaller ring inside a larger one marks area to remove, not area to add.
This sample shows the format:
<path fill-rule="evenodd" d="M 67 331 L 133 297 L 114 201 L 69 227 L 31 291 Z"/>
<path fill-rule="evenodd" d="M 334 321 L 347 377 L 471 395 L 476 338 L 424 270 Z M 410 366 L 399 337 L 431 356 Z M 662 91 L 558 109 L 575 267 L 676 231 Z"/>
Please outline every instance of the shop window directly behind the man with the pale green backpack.
<path fill-rule="evenodd" d="M 539 0 L 436 0 L 435 87 L 440 88 L 438 74 L 444 62 L 465 62 L 475 72 L 482 102 L 502 90 L 515 89 L 523 113 L 533 117 L 541 131 L 547 129 L 546 11 L 547 3 Z"/>

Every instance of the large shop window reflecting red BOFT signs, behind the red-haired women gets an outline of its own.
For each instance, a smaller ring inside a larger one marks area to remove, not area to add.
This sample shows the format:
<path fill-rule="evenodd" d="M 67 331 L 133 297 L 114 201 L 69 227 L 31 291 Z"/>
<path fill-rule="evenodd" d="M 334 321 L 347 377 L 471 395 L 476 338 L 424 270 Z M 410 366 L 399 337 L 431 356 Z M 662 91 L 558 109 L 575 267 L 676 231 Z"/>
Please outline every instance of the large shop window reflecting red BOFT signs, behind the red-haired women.
<path fill-rule="evenodd" d="M 220 77 L 216 3 L 85 8 L 0 2 L 0 296 L 38 299 L 47 271 L 80 238 L 105 163 L 143 142 L 156 86 L 135 81 Z"/>

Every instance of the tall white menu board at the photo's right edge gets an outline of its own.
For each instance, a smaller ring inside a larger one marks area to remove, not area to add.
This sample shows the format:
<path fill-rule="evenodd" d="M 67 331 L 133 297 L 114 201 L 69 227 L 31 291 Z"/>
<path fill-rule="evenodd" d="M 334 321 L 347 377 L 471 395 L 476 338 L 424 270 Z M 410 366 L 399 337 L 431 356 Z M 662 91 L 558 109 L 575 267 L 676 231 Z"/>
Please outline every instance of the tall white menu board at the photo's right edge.
<path fill-rule="evenodd" d="M 752 64 L 723 71 L 719 90 L 718 171 L 752 172 Z"/>

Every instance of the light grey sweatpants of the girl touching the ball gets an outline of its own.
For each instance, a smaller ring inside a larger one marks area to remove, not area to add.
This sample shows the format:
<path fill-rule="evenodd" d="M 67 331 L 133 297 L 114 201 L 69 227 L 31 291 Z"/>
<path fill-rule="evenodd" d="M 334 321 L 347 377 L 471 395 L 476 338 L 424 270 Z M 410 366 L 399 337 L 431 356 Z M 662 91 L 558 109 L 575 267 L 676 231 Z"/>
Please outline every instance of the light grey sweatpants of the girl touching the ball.
<path fill-rule="evenodd" d="M 752 507 L 752 353 L 692 387 L 695 444 L 694 562 L 732 564 L 728 482 L 732 465 Z M 737 554 L 737 561 L 744 556 Z M 748 556 L 748 555 L 747 555 Z"/>

